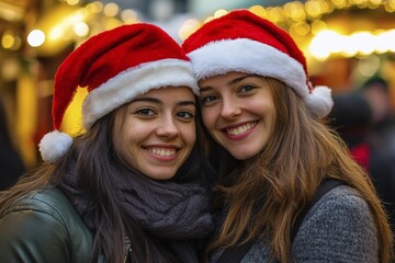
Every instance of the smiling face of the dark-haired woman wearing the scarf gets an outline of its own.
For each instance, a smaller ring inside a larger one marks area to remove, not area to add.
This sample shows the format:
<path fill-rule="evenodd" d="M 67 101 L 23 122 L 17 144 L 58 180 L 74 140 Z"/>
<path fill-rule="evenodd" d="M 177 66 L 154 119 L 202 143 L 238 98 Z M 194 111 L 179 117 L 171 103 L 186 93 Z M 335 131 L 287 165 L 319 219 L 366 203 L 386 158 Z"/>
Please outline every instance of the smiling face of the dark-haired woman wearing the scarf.
<path fill-rule="evenodd" d="M 121 158 L 148 178 L 171 179 L 196 138 L 192 91 L 187 87 L 155 89 L 126 107 L 125 114 L 119 111 L 114 125 Z"/>

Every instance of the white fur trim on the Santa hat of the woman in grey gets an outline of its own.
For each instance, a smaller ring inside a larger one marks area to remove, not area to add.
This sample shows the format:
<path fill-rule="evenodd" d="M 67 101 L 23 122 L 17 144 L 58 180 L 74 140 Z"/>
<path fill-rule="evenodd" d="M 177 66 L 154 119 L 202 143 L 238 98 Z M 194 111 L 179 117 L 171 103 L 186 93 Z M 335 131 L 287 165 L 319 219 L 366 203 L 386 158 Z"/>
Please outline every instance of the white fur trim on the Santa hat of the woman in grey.
<path fill-rule="evenodd" d="M 249 38 L 211 42 L 191 53 L 198 80 L 229 71 L 271 77 L 292 87 L 297 94 L 308 94 L 306 72 L 297 60 L 270 45 Z"/>

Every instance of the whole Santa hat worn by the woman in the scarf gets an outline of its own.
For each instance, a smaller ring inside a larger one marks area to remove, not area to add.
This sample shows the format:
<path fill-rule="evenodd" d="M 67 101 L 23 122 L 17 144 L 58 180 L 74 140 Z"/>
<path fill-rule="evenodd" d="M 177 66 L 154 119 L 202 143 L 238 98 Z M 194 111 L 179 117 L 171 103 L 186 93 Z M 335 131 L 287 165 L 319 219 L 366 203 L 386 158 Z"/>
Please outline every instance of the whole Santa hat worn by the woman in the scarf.
<path fill-rule="evenodd" d="M 55 162 L 72 144 L 59 128 L 78 87 L 87 88 L 82 123 L 95 121 L 151 89 L 190 87 L 198 93 L 191 61 L 179 44 L 151 24 L 122 25 L 100 33 L 74 50 L 59 66 L 54 83 L 53 125 L 40 151 Z"/>

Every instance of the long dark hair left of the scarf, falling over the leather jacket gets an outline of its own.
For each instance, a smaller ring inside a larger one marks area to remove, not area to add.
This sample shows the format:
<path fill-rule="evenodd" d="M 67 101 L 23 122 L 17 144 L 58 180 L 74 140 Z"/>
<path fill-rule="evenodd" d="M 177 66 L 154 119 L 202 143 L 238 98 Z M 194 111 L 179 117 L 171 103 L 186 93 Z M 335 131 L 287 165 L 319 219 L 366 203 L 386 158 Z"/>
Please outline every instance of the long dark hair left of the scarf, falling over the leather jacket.
<path fill-rule="evenodd" d="M 10 190 L 0 195 L 0 215 L 13 206 L 20 198 L 36 190 L 61 185 L 64 176 L 76 165 L 79 185 L 87 191 L 94 204 L 92 214 L 100 215 L 101 221 L 93 244 L 93 260 L 103 253 L 113 262 L 122 262 L 124 255 L 124 222 L 113 198 L 111 174 L 114 171 L 112 157 L 111 129 L 113 113 L 99 119 L 87 133 L 74 138 L 70 150 L 56 163 L 43 162 L 32 169 Z M 105 226 L 105 227 L 104 227 Z"/>

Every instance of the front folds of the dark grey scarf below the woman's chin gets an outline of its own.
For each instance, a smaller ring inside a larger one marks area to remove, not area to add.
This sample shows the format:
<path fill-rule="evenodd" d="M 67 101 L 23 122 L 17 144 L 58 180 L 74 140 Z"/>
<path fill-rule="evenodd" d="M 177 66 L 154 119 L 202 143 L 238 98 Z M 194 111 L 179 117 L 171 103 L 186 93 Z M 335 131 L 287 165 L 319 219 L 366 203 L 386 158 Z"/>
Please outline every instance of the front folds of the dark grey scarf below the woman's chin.
<path fill-rule="evenodd" d="M 196 239 L 212 230 L 208 193 L 203 187 L 142 176 L 138 183 L 133 181 L 121 185 L 116 198 L 148 232 L 162 238 Z M 134 187 L 129 187 L 132 184 Z"/>

